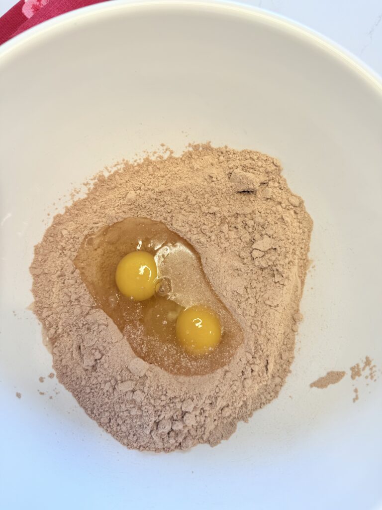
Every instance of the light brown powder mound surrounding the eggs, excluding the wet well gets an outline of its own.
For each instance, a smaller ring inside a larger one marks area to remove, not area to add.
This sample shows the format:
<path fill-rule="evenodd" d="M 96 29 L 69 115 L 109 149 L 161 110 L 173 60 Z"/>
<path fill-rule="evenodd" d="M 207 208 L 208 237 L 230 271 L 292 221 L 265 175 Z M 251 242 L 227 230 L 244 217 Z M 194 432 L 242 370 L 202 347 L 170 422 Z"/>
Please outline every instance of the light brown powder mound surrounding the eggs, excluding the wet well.
<path fill-rule="evenodd" d="M 162 221 L 200 253 L 244 340 L 230 363 L 175 376 L 137 358 L 97 309 L 73 260 L 84 237 L 126 217 Z M 312 220 L 277 160 L 193 145 L 123 162 L 54 217 L 31 265 L 34 311 L 58 380 L 128 448 L 214 446 L 280 392 L 294 357 Z"/>

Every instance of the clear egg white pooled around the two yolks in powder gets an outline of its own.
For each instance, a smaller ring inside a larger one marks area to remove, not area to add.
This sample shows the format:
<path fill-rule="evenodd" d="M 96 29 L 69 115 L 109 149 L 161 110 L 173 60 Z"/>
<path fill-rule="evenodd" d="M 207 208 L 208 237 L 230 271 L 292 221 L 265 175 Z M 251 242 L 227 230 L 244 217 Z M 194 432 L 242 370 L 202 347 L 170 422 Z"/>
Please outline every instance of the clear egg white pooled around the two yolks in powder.
<path fill-rule="evenodd" d="M 155 294 L 144 301 L 125 297 L 115 283 L 120 260 L 131 251 L 151 253 L 158 268 Z M 87 236 L 74 260 L 96 304 L 118 326 L 134 353 L 178 375 L 203 375 L 225 366 L 243 339 L 242 330 L 213 291 L 197 251 L 161 222 L 126 218 Z M 184 351 L 175 336 L 179 313 L 193 305 L 214 311 L 220 344 L 204 355 Z"/>

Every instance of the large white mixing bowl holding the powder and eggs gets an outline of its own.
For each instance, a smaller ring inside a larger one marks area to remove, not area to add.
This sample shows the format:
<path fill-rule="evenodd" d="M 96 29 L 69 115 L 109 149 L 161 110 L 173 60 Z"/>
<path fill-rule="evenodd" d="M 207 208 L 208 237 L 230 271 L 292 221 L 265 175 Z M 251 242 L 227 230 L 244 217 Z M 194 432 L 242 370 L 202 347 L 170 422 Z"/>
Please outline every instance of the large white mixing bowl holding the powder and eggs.
<path fill-rule="evenodd" d="M 375 507 L 381 82 L 328 41 L 260 10 L 111 2 L 0 48 L 0 101 L 0 506 Z M 279 398 L 229 441 L 168 455 L 128 451 L 56 379 L 39 382 L 51 358 L 26 310 L 33 246 L 47 214 L 63 210 L 60 198 L 104 165 L 162 142 L 179 151 L 207 140 L 279 158 L 314 220 L 296 359 Z M 366 355 L 376 382 L 352 381 L 350 366 Z M 309 387 L 329 370 L 347 375 Z"/>

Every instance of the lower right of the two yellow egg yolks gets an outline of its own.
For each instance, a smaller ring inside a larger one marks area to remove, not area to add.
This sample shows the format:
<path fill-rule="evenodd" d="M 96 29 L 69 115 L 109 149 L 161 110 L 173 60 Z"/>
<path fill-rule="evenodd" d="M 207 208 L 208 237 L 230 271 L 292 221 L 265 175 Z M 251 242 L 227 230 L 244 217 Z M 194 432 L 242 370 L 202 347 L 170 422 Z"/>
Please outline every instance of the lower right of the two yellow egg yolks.
<path fill-rule="evenodd" d="M 175 334 L 179 344 L 189 354 L 206 354 L 219 344 L 222 326 L 212 310 L 195 306 L 179 314 Z"/>

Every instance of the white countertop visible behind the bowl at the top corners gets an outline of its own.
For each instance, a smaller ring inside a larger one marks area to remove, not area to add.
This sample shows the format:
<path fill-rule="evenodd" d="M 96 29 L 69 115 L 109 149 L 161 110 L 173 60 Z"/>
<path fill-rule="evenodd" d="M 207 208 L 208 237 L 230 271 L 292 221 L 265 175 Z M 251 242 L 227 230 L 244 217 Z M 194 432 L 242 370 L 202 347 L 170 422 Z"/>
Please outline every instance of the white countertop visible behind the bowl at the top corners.
<path fill-rule="evenodd" d="M 16 3 L 0 0 L 0 15 Z M 242 0 L 291 18 L 341 44 L 382 75 L 381 0 Z"/>

